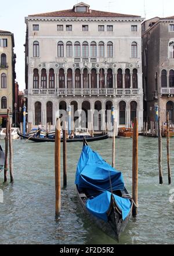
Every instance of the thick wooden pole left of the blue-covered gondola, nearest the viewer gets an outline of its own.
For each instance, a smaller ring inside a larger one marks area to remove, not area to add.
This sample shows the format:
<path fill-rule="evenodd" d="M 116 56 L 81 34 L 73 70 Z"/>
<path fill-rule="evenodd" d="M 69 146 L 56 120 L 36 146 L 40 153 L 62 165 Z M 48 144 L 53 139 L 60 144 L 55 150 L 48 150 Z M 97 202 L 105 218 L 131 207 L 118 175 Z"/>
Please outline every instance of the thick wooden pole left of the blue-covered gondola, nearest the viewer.
<path fill-rule="evenodd" d="M 56 189 L 56 218 L 60 215 L 61 180 L 60 180 L 60 118 L 57 118 L 55 129 L 55 189 Z"/>

